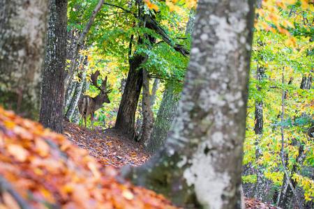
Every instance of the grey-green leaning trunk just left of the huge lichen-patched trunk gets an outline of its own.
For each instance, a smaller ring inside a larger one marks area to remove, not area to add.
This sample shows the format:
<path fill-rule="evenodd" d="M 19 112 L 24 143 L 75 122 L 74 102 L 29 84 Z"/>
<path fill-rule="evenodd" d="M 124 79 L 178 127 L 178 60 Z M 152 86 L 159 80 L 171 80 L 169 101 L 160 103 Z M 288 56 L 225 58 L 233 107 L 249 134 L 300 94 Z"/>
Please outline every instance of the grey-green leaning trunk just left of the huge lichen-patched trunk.
<path fill-rule="evenodd" d="M 179 93 L 174 92 L 174 82 L 168 82 L 163 93 L 163 100 L 158 110 L 153 132 L 146 146 L 150 153 L 156 153 L 165 143 L 167 133 L 177 111 Z"/>

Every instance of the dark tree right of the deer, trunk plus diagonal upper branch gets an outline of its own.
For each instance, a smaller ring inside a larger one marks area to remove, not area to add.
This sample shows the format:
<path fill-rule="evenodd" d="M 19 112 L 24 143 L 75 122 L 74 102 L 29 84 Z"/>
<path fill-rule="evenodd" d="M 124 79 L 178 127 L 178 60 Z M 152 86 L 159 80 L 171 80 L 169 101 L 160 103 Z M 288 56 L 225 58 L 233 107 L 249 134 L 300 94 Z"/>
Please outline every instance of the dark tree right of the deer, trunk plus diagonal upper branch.
<path fill-rule="evenodd" d="M 167 45 L 169 45 L 182 55 L 187 56 L 189 54 L 188 50 L 185 49 L 184 46 L 177 44 L 174 40 L 172 40 L 172 38 L 170 38 L 170 36 L 167 35 L 165 30 L 158 24 L 158 22 L 156 22 L 154 15 L 149 15 L 145 13 L 144 2 L 135 2 L 136 7 L 138 8 L 138 15 L 136 15 L 138 26 L 144 29 L 150 29 L 154 31 L 160 36 L 160 38 L 163 39 L 163 42 L 166 42 Z M 153 37 L 153 39 L 154 38 L 155 37 Z M 133 38 L 131 38 L 131 42 L 132 39 Z M 143 39 L 144 37 L 139 37 L 137 40 L 137 44 L 144 44 Z M 152 41 L 152 39 L 149 39 L 149 42 L 152 44 L 154 41 Z M 132 52 L 133 50 L 132 47 L 133 45 L 130 45 L 130 52 Z M 128 78 L 126 79 L 126 86 L 124 88 L 124 93 L 121 98 L 121 103 L 117 114 L 117 121 L 114 127 L 120 132 L 128 134 L 128 136 L 130 137 L 133 137 L 135 132 L 135 111 L 137 109 L 137 102 L 140 98 L 140 93 L 143 85 L 143 69 L 141 68 L 141 65 L 146 60 L 147 57 L 145 57 L 143 53 L 138 53 L 136 49 L 134 54 L 128 54 L 128 61 L 130 66 L 128 71 Z M 147 134 L 144 135 L 147 136 Z"/>

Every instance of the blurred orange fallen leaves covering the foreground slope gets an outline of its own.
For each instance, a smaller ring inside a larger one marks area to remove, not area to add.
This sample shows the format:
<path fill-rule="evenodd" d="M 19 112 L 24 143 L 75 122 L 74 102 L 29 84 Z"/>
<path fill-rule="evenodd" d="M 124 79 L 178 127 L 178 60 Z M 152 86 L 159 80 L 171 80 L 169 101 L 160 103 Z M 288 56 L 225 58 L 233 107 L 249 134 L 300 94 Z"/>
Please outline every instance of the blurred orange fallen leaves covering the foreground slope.
<path fill-rule="evenodd" d="M 0 208 L 175 208 L 117 175 L 63 135 L 0 107 Z"/>

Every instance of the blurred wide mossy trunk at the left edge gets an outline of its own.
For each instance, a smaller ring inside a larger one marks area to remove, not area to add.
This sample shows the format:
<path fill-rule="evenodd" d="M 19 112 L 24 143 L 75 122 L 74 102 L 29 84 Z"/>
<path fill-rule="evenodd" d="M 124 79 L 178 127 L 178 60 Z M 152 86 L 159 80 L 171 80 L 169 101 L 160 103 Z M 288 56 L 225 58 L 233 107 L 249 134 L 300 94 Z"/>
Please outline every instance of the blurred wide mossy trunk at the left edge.
<path fill-rule="evenodd" d="M 47 0 L 0 1 L 0 104 L 38 118 Z"/>

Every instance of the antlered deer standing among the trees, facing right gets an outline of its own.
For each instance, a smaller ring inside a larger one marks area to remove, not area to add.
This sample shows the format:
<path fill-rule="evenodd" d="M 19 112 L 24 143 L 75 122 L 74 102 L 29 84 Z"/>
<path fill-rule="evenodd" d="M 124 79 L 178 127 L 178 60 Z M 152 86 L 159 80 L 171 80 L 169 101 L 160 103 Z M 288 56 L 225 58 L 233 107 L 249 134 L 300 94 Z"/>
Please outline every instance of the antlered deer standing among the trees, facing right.
<path fill-rule="evenodd" d="M 108 93 L 112 91 L 112 89 L 107 91 L 107 76 L 103 80 L 102 84 L 98 86 L 97 79 L 100 75 L 100 72 L 97 70 L 91 75 L 91 83 L 93 86 L 96 86 L 100 90 L 100 93 L 92 98 L 89 95 L 82 95 L 80 100 L 78 101 L 78 109 L 82 118 L 84 118 L 84 123 L 86 127 L 86 119 L 89 114 L 91 115 L 91 129 L 94 129 L 94 114 L 95 111 L 103 107 L 103 103 L 110 103 L 108 98 Z"/>

